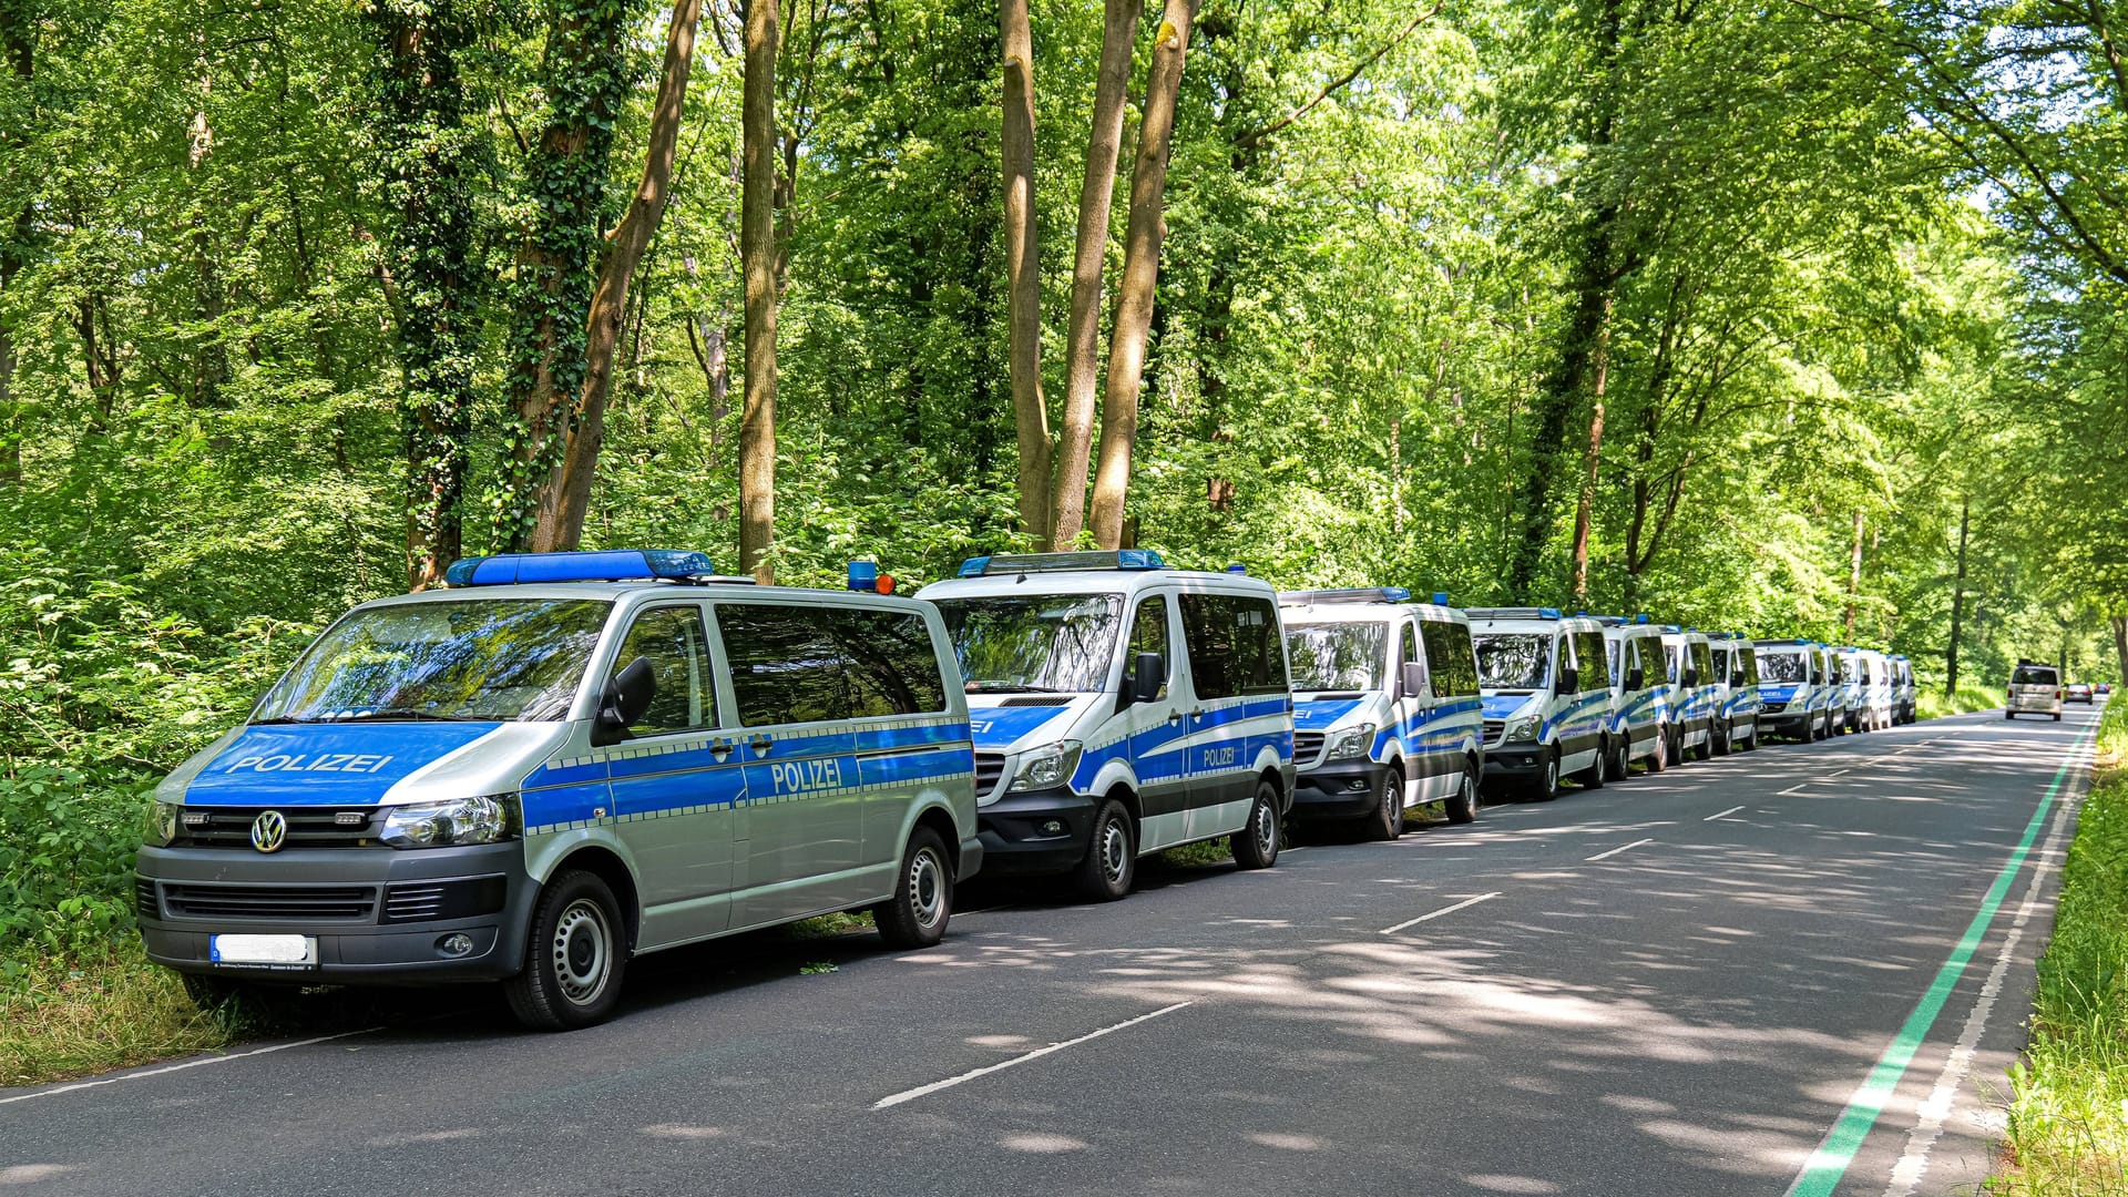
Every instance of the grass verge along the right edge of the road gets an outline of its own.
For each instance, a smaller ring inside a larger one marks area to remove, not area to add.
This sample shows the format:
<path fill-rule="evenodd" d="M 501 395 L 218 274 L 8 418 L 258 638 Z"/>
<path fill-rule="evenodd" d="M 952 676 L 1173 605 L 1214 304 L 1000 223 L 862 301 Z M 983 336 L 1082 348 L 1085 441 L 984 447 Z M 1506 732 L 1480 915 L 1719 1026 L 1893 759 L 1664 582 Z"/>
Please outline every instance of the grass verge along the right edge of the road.
<path fill-rule="evenodd" d="M 2005 1167 L 1988 1193 L 2128 1193 L 2128 703 L 2105 711 L 2096 769 L 2039 958 L 2032 1042 L 2011 1067 Z"/>

